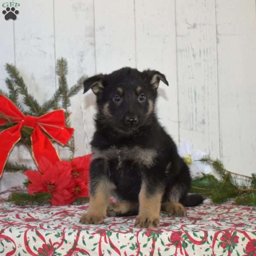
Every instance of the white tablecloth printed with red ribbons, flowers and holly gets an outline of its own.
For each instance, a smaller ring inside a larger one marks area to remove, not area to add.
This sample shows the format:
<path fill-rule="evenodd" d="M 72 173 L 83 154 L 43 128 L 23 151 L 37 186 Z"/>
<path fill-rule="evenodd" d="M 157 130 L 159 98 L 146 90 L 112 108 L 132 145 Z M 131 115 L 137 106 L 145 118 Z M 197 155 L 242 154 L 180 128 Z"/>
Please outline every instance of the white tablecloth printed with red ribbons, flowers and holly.
<path fill-rule="evenodd" d="M 134 227 L 135 217 L 110 217 L 82 225 L 88 207 L 17 207 L 0 195 L 0 255 L 236 255 L 256 256 L 256 208 L 209 201 L 187 217 L 161 213 L 154 229 Z"/>

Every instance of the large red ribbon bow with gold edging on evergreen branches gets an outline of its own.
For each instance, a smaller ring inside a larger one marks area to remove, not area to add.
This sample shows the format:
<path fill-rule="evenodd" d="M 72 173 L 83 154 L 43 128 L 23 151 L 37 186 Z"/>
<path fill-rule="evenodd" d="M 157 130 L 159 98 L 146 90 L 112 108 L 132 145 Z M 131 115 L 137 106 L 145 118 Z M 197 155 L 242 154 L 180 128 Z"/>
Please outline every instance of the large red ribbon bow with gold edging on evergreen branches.
<path fill-rule="evenodd" d="M 31 135 L 32 153 L 39 169 L 41 157 L 46 157 L 51 163 L 60 160 L 51 141 L 41 130 L 44 130 L 56 142 L 65 145 L 71 138 L 74 129 L 65 127 L 63 110 L 55 110 L 39 117 L 25 116 L 9 99 L 0 94 L 0 113 L 17 123 L 0 133 L 0 177 L 10 151 L 20 140 L 20 130 L 23 126 L 34 129 Z M 4 124 L 6 124 L 6 120 L 0 117 L 0 125 Z"/>

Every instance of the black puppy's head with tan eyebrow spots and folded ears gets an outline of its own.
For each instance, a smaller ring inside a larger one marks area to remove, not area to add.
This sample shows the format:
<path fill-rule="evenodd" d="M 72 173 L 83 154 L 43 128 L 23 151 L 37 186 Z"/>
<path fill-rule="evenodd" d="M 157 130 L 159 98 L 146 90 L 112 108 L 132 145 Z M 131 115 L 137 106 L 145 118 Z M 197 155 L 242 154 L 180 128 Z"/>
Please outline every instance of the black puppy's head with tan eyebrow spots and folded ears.
<path fill-rule="evenodd" d="M 154 114 L 159 82 L 166 77 L 156 70 L 124 67 L 108 75 L 99 74 L 84 81 L 84 93 L 92 90 L 97 97 L 98 116 L 115 130 L 130 133 L 142 127 Z"/>

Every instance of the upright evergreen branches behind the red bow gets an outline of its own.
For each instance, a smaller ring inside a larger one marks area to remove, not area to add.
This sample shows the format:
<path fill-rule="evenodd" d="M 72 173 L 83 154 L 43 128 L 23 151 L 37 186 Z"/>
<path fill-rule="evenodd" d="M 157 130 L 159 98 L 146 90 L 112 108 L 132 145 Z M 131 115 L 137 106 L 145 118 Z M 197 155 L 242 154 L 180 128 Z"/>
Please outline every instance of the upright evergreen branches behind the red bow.
<path fill-rule="evenodd" d="M 6 71 L 9 74 L 9 78 L 6 78 L 6 85 L 9 90 L 8 93 L 0 90 L 0 93 L 9 98 L 25 115 L 31 116 L 41 116 L 49 111 L 60 109 L 61 107 L 64 109 L 65 117 L 66 117 L 66 125 L 71 126 L 70 122 L 70 114 L 69 107 L 70 97 L 75 96 L 83 87 L 83 81 L 86 79 L 86 76 L 81 76 L 81 78 L 77 81 L 75 85 L 73 85 L 70 89 L 68 88 L 67 84 L 67 73 L 68 73 L 68 66 L 67 60 L 65 58 L 60 58 L 57 60 L 56 64 L 56 74 L 58 76 L 58 89 L 55 91 L 54 95 L 51 99 L 47 102 L 44 102 L 43 105 L 40 105 L 38 101 L 29 93 L 26 84 L 23 81 L 22 76 L 20 76 L 19 71 L 17 68 L 12 64 L 6 64 Z M 24 111 L 20 102 L 19 96 L 22 96 L 22 102 L 28 108 L 28 111 Z M 13 123 L 7 116 L 4 116 L 3 113 L 0 113 L 0 117 L 6 119 L 6 124 L 0 126 L 0 132 L 11 127 Z M 24 145 L 31 154 L 31 134 L 32 129 L 28 127 L 23 127 L 21 130 L 22 137 L 19 141 L 19 144 Z M 52 140 L 51 138 L 49 138 Z M 70 158 L 72 159 L 75 153 L 75 140 L 72 137 L 65 145 L 70 152 Z M 5 170 L 9 172 L 18 171 L 19 166 L 14 165 L 13 163 L 6 163 Z M 26 166 L 20 166 L 20 170 L 28 169 Z"/>

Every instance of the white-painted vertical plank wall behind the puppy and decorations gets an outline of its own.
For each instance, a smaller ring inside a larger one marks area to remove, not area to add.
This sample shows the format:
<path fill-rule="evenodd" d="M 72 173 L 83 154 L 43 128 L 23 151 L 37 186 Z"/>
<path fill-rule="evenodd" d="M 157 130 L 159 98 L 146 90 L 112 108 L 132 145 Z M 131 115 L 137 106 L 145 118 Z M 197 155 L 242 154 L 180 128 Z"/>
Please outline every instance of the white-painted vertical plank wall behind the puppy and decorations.
<path fill-rule="evenodd" d="M 82 74 L 157 69 L 170 84 L 160 86 L 157 112 L 174 140 L 190 140 L 233 172 L 256 172 L 255 0 L 19 3 L 17 20 L 0 19 L 1 89 L 6 62 L 41 103 L 58 87 L 59 57 L 67 58 L 70 86 Z M 76 155 L 90 152 L 94 106 L 91 92 L 72 99 Z M 11 157 L 30 161 L 22 148 Z"/>

